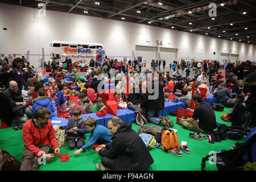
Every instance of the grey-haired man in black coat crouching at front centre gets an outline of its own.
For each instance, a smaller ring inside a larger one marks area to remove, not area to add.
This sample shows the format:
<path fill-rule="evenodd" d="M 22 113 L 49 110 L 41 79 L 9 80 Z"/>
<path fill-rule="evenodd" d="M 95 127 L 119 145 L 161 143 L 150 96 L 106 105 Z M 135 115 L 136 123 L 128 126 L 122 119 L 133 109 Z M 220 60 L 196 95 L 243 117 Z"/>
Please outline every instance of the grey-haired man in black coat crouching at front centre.
<path fill-rule="evenodd" d="M 102 156 L 96 167 L 101 170 L 146 170 L 154 160 L 139 134 L 131 129 L 131 123 L 123 123 L 119 117 L 108 121 L 112 143 L 102 144 L 96 152 Z"/>

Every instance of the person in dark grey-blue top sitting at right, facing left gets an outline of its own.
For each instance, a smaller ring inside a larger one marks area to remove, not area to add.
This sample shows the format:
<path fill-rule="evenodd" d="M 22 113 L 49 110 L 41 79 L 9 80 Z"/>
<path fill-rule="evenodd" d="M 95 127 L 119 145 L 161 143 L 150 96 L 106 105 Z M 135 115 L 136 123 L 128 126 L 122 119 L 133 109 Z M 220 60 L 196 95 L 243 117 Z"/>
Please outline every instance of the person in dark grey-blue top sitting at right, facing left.
<path fill-rule="evenodd" d="M 223 84 L 222 80 L 218 81 L 218 89 L 214 93 L 213 97 L 216 97 L 225 107 L 233 107 L 236 104 L 236 101 L 233 100 L 229 89 L 225 88 Z"/>

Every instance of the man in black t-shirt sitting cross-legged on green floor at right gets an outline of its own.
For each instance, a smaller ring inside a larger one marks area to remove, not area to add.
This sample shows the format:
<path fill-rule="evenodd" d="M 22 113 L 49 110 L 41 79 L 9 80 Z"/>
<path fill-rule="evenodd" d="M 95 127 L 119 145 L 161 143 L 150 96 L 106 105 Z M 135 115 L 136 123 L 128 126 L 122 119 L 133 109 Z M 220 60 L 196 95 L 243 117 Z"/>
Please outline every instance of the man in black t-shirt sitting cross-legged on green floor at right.
<path fill-rule="evenodd" d="M 216 117 L 212 106 L 207 102 L 203 102 L 203 97 L 200 94 L 195 94 L 193 97 L 194 103 L 197 105 L 196 109 L 188 108 L 193 115 L 189 119 L 179 119 L 179 124 L 185 129 L 196 131 L 199 133 L 209 133 L 216 128 Z M 195 121 L 199 119 L 199 122 Z"/>

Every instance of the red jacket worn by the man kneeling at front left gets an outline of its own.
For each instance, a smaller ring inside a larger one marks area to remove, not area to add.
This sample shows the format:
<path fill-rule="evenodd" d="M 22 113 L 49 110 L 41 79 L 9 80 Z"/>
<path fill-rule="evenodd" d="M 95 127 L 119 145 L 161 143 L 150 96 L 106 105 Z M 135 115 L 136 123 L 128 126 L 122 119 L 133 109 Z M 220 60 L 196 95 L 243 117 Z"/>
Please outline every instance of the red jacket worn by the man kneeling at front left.
<path fill-rule="evenodd" d="M 37 145 L 51 144 L 53 150 L 59 147 L 51 121 L 47 121 L 46 125 L 39 128 L 35 125 L 32 118 L 24 123 L 22 135 L 25 147 L 38 157 L 40 157 L 44 151 L 36 147 Z"/>

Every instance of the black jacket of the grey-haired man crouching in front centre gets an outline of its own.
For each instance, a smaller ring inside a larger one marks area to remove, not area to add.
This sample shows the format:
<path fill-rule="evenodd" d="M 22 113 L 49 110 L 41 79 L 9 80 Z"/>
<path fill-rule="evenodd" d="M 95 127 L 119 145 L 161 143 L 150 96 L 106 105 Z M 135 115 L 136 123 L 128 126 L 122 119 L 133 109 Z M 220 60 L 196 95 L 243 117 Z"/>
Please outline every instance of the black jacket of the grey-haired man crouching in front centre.
<path fill-rule="evenodd" d="M 106 150 L 98 154 L 113 160 L 114 170 L 146 170 L 154 163 L 141 137 L 131 129 L 131 123 L 118 127 L 112 140 L 106 144 Z"/>

